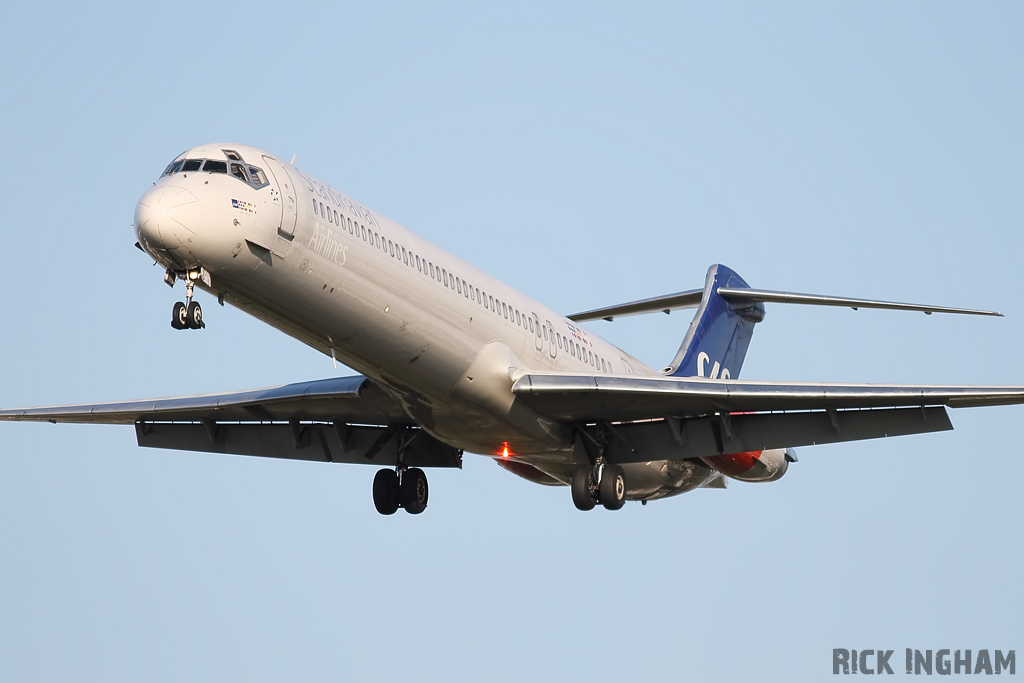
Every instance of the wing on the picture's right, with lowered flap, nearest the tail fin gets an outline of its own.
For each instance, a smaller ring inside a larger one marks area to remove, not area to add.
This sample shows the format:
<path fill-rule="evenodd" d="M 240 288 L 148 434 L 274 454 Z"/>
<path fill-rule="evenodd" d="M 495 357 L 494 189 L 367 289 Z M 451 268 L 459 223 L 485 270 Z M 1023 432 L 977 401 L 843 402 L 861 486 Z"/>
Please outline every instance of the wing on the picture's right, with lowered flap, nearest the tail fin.
<path fill-rule="evenodd" d="M 605 457 L 617 464 L 943 431 L 952 429 L 944 407 L 1024 403 L 1024 387 L 629 375 L 523 375 L 512 391 L 541 415 L 575 423 L 592 439 L 596 432 L 612 434 Z"/>

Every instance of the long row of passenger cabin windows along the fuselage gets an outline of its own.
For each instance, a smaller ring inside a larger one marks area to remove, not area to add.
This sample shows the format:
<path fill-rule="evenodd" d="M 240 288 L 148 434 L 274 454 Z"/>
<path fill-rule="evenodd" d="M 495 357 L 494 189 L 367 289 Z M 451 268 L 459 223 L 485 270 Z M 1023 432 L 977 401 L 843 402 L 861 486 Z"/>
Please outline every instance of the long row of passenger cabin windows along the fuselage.
<path fill-rule="evenodd" d="M 538 337 L 541 337 L 543 334 L 545 342 L 548 342 L 548 326 L 542 326 L 540 323 L 535 324 L 531 316 L 522 313 L 519 309 L 508 305 L 508 303 L 502 301 L 501 299 L 496 299 L 486 292 L 481 292 L 478 288 L 473 287 L 465 280 L 457 278 L 455 273 L 449 273 L 447 268 L 442 268 L 439 265 L 435 266 L 432 261 L 428 261 L 425 258 L 421 259 L 419 255 L 414 254 L 411 250 L 407 250 L 401 245 L 396 245 L 390 240 L 382 238 L 380 233 L 374 232 L 372 229 L 368 230 L 366 225 L 360 225 L 357 221 L 353 222 L 352 219 L 347 216 L 339 215 L 337 210 L 332 209 L 329 206 L 325 207 L 324 203 L 317 201 L 315 198 L 313 198 L 312 202 L 313 213 L 321 218 L 324 218 L 329 223 L 337 225 L 341 229 L 346 229 L 347 226 L 350 234 L 356 238 L 361 238 L 364 242 L 369 242 L 371 246 L 381 249 L 386 254 L 398 259 L 410 267 L 415 266 L 417 270 L 429 278 L 433 278 L 444 287 L 454 290 L 456 293 L 463 295 L 471 301 L 482 304 L 484 308 L 487 308 L 492 312 L 497 313 L 499 316 L 514 323 L 523 330 L 529 330 L 530 334 L 536 334 Z M 552 341 L 557 340 L 558 348 L 567 352 L 573 358 L 599 369 L 601 372 L 614 372 L 611 370 L 610 362 L 605 361 L 605 359 L 599 355 L 594 355 L 593 351 L 581 347 L 580 344 L 571 341 L 567 336 L 562 337 L 562 335 L 558 334 L 554 330 L 551 330 L 550 334 L 553 338 Z"/>

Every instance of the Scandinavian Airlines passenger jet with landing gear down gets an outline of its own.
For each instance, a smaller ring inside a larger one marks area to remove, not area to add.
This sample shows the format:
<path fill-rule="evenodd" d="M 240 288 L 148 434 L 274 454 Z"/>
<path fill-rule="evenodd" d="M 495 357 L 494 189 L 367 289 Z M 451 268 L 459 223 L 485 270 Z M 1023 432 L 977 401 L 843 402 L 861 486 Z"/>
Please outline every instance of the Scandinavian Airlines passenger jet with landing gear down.
<path fill-rule="evenodd" d="M 794 449 L 952 429 L 946 408 L 1024 402 L 1024 386 L 741 381 L 765 304 L 999 315 L 760 290 L 715 264 L 700 289 L 562 315 L 244 144 L 176 157 L 135 207 L 136 247 L 184 286 L 171 327 L 206 327 L 196 289 L 360 375 L 249 391 L 0 411 L 133 425 L 140 446 L 380 467 L 381 514 L 427 507 L 424 469 L 492 458 L 574 506 L 621 509 L 730 479 L 775 481 Z M 694 308 L 650 368 L 581 323 Z"/>

